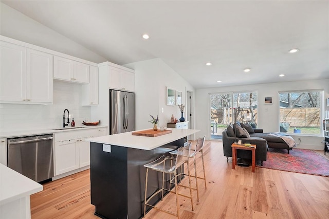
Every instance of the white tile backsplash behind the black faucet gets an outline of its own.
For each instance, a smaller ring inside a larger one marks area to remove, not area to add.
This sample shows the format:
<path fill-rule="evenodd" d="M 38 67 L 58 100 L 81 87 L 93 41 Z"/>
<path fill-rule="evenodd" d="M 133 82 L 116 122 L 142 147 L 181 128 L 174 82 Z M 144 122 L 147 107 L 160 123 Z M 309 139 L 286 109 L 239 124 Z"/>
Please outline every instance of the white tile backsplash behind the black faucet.
<path fill-rule="evenodd" d="M 66 108 L 70 122 L 74 118 L 76 126 L 90 121 L 90 106 L 81 106 L 81 86 L 54 80 L 51 105 L 0 104 L 0 132 L 62 127 Z"/>

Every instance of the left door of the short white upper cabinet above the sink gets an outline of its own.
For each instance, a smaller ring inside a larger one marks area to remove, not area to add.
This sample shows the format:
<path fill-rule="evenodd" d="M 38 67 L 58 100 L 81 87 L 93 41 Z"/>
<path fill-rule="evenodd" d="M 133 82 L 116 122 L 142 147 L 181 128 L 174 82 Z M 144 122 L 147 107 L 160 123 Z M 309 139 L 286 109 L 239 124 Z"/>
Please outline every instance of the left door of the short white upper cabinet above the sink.
<path fill-rule="evenodd" d="M 73 78 L 73 60 L 53 57 L 53 78 L 71 81 Z"/>

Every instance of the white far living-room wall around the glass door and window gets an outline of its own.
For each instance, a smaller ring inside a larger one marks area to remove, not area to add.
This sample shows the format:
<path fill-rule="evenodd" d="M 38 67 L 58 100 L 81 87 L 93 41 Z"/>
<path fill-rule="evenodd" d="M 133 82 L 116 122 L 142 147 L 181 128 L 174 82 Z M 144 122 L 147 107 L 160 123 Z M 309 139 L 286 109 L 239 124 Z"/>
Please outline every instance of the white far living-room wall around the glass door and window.
<path fill-rule="evenodd" d="M 196 123 L 197 129 L 202 130 L 201 132 L 197 133 L 197 135 L 198 137 L 206 135 L 208 139 L 210 137 L 210 93 L 248 92 L 251 90 L 258 91 L 258 127 L 262 128 L 264 132 L 278 132 L 278 92 L 285 90 L 288 91 L 305 89 L 324 89 L 324 98 L 329 98 L 329 79 L 197 89 L 195 95 L 197 102 Z M 273 97 L 273 104 L 264 104 L 264 98 L 268 96 Z M 329 107 L 324 107 L 324 109 L 328 108 Z M 291 136 L 296 140 L 297 143 L 299 142 L 297 139 L 301 138 L 301 143 L 298 145 L 298 148 L 323 150 L 323 137 L 309 137 L 300 135 Z"/>

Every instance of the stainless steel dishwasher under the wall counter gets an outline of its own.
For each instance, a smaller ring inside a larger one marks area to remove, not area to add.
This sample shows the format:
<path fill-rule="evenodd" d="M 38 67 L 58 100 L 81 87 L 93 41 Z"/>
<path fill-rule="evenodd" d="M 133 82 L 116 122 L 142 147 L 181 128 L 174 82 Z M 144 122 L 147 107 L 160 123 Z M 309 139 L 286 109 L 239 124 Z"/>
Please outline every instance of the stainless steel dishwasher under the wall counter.
<path fill-rule="evenodd" d="M 53 177 L 52 135 L 8 138 L 8 167 L 41 182 Z"/>

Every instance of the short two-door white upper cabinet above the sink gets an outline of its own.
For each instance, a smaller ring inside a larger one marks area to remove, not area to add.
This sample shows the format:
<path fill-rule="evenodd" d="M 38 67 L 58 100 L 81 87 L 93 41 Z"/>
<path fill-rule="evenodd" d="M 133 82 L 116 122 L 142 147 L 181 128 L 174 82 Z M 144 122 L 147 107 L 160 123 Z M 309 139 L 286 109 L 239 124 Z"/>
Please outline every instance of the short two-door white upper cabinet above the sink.
<path fill-rule="evenodd" d="M 58 56 L 54 56 L 53 63 L 54 79 L 89 83 L 89 65 Z"/>

